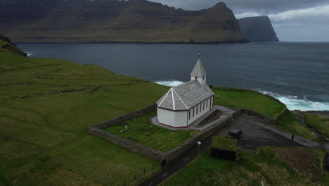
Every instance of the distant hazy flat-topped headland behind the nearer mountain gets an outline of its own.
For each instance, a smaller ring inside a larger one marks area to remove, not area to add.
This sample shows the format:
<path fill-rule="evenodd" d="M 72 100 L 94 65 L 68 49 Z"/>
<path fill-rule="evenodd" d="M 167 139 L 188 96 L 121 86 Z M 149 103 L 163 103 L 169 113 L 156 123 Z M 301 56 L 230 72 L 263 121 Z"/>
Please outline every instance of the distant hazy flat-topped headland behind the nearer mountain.
<path fill-rule="evenodd" d="M 242 18 L 238 21 L 241 32 L 250 42 L 279 42 L 268 16 Z"/>

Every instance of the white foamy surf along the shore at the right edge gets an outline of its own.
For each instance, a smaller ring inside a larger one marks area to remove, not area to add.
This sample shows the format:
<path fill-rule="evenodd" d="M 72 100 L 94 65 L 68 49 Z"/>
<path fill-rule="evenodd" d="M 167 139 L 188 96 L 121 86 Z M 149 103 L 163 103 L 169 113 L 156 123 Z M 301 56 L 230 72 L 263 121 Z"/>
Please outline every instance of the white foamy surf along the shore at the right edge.
<path fill-rule="evenodd" d="M 329 102 L 310 101 L 307 97 L 299 99 L 297 96 L 280 95 L 273 92 L 259 90 L 262 94 L 275 97 L 285 104 L 290 111 L 329 111 Z"/>

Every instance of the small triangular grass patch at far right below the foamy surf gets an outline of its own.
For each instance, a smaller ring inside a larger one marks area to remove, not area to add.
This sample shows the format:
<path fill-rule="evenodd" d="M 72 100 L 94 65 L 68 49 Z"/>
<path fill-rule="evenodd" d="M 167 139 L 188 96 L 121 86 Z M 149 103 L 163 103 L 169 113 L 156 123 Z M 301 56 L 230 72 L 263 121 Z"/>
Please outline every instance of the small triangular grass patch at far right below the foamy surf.
<path fill-rule="evenodd" d="M 314 135 L 311 134 L 311 130 L 305 128 L 304 125 L 299 123 L 298 119 L 290 112 L 286 113 L 285 116 L 280 118 L 276 123 L 273 124 L 275 127 L 282 130 L 291 132 L 294 135 L 306 137 L 309 140 L 319 141 Z"/>

